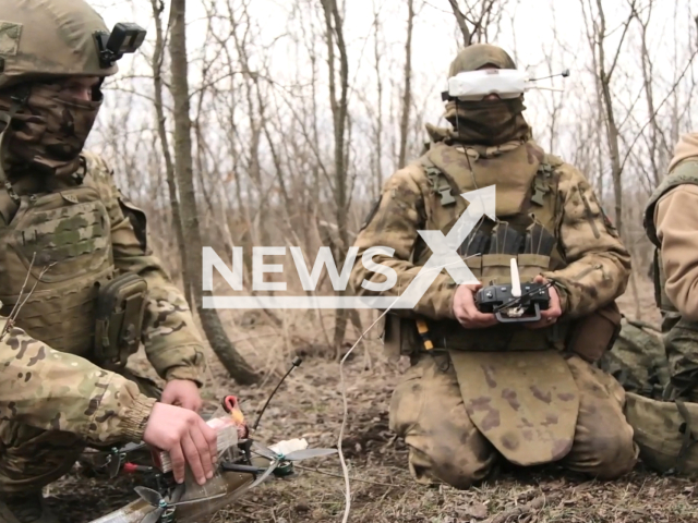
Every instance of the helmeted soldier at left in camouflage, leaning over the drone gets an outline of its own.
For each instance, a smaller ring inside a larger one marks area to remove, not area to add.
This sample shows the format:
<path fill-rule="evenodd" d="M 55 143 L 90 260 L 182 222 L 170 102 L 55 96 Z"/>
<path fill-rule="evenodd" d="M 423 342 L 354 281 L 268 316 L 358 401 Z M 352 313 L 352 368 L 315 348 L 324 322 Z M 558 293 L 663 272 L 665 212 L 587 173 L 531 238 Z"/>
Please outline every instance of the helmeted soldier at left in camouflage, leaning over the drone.
<path fill-rule="evenodd" d="M 110 31 L 85 1 L 0 0 L 0 325 L 21 304 L 0 337 L 0 492 L 43 487 L 86 443 L 142 440 L 161 391 L 94 354 L 98 289 L 116 277 L 147 283 L 140 341 L 157 374 L 202 385 L 203 344 L 145 215 L 103 159 L 81 155 L 104 97 L 62 81 L 118 72 L 98 33 Z"/>

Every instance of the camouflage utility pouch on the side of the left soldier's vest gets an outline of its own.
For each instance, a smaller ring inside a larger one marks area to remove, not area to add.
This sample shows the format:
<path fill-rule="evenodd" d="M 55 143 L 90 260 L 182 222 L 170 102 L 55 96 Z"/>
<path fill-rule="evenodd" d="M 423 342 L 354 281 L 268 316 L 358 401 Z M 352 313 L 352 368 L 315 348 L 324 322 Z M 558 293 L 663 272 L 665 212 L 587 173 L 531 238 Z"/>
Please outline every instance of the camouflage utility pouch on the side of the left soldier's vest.
<path fill-rule="evenodd" d="M 119 276 L 99 290 L 95 358 L 105 368 L 123 368 L 129 356 L 137 352 L 146 292 L 146 281 L 134 273 Z"/>

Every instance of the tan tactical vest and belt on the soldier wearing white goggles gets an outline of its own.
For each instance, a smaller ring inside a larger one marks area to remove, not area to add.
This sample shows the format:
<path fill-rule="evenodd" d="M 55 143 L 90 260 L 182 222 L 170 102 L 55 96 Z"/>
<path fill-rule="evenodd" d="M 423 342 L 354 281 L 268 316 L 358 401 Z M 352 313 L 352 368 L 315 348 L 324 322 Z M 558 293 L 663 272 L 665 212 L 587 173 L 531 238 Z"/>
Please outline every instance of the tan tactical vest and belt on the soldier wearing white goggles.
<path fill-rule="evenodd" d="M 517 259 L 521 282 L 564 268 L 557 239 L 563 217 L 556 172 L 561 165 L 559 158 L 544 154 L 532 141 L 498 147 L 436 143 L 417 161 L 432 186 L 425 195 L 424 228 L 446 234 L 469 205 L 460 194 L 495 184 L 496 222 L 483 218 L 459 250 L 476 278 L 483 285 L 510 283 L 512 258 Z M 431 255 L 420 238 L 412 263 L 422 266 Z M 467 330 L 456 320 L 423 321 L 435 348 L 464 351 L 562 350 L 570 328 L 565 319 L 535 330 L 517 324 Z M 388 354 L 395 356 L 397 350 L 411 354 L 423 341 L 424 333 L 416 329 L 413 320 L 388 315 L 384 339 Z"/>

